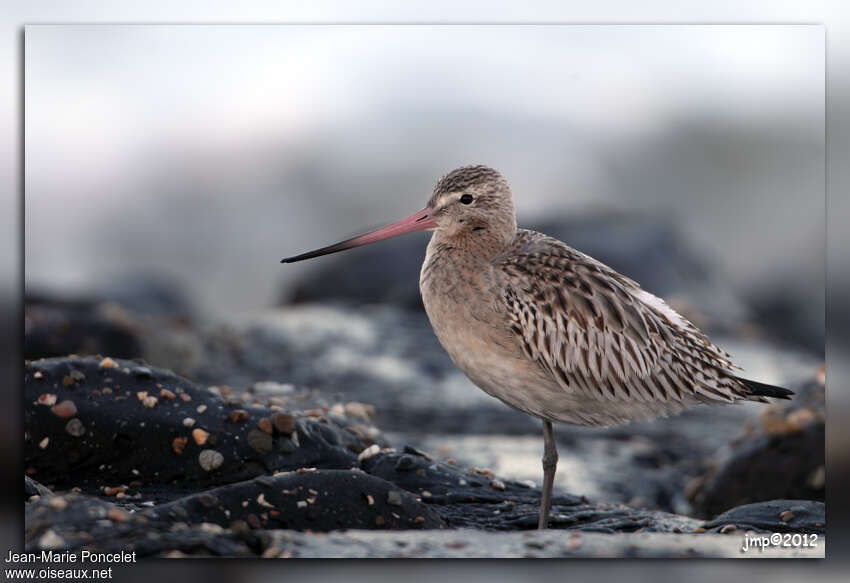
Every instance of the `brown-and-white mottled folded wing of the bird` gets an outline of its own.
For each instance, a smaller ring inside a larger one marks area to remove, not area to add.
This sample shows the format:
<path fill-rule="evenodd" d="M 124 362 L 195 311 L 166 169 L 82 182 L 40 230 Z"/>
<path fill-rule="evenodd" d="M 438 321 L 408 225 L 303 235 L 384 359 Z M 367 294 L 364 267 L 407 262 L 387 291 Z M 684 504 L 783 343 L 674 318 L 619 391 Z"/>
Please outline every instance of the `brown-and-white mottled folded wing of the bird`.
<path fill-rule="evenodd" d="M 602 400 L 737 400 L 729 355 L 660 298 L 557 239 L 494 259 L 511 330 L 559 385 Z"/>

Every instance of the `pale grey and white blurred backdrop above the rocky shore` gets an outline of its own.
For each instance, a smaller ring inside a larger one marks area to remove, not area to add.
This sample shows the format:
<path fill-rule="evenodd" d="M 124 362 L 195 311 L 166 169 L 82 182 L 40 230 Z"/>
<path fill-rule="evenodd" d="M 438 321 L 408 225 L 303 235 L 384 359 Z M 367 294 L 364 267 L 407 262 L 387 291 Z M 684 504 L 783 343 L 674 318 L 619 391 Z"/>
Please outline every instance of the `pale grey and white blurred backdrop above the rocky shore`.
<path fill-rule="evenodd" d="M 597 248 L 594 231 L 637 223 L 655 233 L 637 248 L 672 240 L 700 266 L 685 279 L 708 274 L 703 311 L 734 306 L 822 358 L 822 28 L 323 29 L 31 28 L 28 289 L 158 282 L 209 320 L 288 304 L 324 266 L 281 256 L 419 208 L 439 175 L 484 162 L 521 223 L 554 214 Z M 695 310 L 700 286 L 675 280 L 645 287 Z"/>

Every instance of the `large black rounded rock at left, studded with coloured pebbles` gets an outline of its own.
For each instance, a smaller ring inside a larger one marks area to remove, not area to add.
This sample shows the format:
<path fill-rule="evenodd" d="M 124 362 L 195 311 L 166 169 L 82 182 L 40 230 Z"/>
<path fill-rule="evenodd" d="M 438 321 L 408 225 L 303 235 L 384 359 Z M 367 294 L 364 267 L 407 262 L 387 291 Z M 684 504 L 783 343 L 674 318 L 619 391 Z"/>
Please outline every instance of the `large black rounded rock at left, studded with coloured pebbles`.
<path fill-rule="evenodd" d="M 54 358 L 27 364 L 24 456 L 34 478 L 88 491 L 140 480 L 146 495 L 153 495 L 157 485 L 199 488 L 276 470 L 348 468 L 357 465 L 356 454 L 372 443 L 334 421 L 298 418 L 296 445 L 288 437 L 254 429 L 259 419 L 274 413 L 270 409 L 243 407 L 246 421 L 230 423 L 234 406 L 171 372 L 133 361 L 116 359 L 110 366 L 117 368 L 101 367 L 101 362 Z M 85 378 L 66 386 L 62 378 L 72 371 Z M 177 398 L 151 401 L 161 389 Z M 39 404 L 45 393 L 60 402 L 73 399 L 85 431 L 69 434 L 67 420 Z M 196 420 L 193 427 L 184 425 L 187 417 Z M 45 437 L 48 443 L 42 448 Z M 287 446 L 276 443 L 283 440 Z M 202 451 L 211 452 L 204 454 L 206 467 Z"/>

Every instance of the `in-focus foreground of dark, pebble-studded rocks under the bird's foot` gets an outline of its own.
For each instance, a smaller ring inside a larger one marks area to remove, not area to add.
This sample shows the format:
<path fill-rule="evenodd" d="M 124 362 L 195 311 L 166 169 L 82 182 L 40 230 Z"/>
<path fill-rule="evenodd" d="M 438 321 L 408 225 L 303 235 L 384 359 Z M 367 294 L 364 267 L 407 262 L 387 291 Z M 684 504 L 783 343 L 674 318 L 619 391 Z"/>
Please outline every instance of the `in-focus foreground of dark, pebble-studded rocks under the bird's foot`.
<path fill-rule="evenodd" d="M 704 521 L 558 493 L 556 531 L 536 533 L 534 484 L 392 443 L 358 401 L 329 403 L 291 385 L 203 387 L 100 356 L 30 361 L 25 390 L 32 550 L 735 556 L 744 533 L 825 531 L 823 504 L 813 500 L 738 506 Z M 401 530 L 422 532 L 387 532 Z"/>

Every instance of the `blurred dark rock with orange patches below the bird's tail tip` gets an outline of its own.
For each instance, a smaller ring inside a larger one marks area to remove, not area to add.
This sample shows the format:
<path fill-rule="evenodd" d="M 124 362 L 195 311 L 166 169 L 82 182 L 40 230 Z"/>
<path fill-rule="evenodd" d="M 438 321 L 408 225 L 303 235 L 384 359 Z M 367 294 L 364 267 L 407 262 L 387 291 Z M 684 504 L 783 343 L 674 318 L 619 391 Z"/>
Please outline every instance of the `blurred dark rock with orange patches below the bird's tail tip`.
<path fill-rule="evenodd" d="M 773 403 L 690 492 L 694 512 L 709 518 L 764 500 L 824 499 L 824 386 L 811 381 L 791 401 Z"/>

